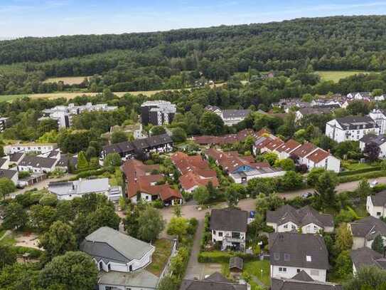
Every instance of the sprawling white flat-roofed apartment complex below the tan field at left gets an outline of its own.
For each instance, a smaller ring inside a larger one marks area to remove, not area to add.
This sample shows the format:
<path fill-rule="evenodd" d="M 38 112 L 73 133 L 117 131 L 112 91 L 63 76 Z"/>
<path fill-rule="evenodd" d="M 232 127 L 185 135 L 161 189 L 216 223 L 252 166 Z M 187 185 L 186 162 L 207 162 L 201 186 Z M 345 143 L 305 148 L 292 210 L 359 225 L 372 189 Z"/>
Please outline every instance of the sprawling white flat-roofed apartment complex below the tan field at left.
<path fill-rule="evenodd" d="M 57 105 L 54 108 L 43 110 L 43 117 L 39 120 L 52 119 L 58 122 L 59 128 L 69 128 L 73 125 L 73 115 L 79 115 L 83 112 L 94 112 L 94 111 L 112 111 L 118 107 L 109 106 L 107 104 L 96 104 L 87 103 L 86 105 L 75 105 L 70 103 L 68 106 Z"/>

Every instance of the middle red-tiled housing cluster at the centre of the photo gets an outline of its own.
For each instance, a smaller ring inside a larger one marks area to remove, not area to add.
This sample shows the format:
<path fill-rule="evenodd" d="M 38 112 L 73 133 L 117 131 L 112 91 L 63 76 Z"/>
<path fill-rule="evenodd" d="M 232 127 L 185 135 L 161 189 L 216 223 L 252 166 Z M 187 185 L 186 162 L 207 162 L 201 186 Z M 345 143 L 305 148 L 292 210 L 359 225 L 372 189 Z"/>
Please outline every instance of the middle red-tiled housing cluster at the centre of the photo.
<path fill-rule="evenodd" d="M 178 178 L 185 192 L 193 192 L 199 186 L 206 186 L 212 182 L 213 187 L 218 187 L 215 170 L 210 169 L 208 161 L 200 155 L 188 156 L 183 152 L 171 155 L 171 161 L 181 173 Z"/>

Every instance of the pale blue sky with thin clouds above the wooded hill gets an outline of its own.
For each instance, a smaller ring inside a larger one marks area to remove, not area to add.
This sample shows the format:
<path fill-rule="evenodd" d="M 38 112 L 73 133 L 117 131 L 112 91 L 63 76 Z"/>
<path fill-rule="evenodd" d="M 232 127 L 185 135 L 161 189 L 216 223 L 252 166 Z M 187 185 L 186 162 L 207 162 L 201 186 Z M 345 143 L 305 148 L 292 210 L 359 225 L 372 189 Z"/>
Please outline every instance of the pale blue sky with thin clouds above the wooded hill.
<path fill-rule="evenodd" d="M 386 14 L 386 0 L 0 0 L 0 38 L 130 33 Z"/>

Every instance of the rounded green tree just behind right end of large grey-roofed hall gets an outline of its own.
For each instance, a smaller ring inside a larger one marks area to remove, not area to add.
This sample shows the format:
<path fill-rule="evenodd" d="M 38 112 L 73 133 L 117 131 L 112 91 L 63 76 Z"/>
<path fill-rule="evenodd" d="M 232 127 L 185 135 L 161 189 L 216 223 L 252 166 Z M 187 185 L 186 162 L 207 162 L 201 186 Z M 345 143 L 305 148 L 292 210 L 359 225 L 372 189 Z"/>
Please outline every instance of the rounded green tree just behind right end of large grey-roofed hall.
<path fill-rule="evenodd" d="M 161 213 L 150 206 L 140 212 L 138 222 L 139 238 L 146 242 L 155 241 L 165 227 L 165 221 L 163 220 Z"/>

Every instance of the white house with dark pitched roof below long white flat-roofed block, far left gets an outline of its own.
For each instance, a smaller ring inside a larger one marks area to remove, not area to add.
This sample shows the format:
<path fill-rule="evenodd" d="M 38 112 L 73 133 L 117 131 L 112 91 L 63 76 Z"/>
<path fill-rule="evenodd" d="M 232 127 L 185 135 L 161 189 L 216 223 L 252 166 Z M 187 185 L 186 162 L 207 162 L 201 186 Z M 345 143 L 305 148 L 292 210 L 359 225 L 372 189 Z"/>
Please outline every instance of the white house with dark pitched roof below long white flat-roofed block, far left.
<path fill-rule="evenodd" d="M 34 173 L 48 173 L 55 170 L 55 165 L 58 160 L 55 158 L 39 157 L 39 156 L 28 156 L 23 157 L 19 162 L 17 169 L 18 171 L 28 171 Z"/>

